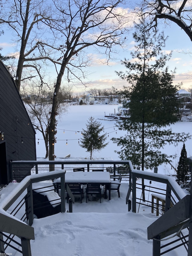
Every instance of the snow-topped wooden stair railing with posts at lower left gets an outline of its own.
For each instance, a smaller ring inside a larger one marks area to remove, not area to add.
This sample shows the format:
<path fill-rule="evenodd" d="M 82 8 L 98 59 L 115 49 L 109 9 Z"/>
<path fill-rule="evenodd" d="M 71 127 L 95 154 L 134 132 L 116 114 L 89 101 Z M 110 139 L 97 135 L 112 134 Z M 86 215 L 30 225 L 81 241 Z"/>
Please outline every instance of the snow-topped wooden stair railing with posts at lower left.
<path fill-rule="evenodd" d="M 21 238 L 22 254 L 24 256 L 31 255 L 30 239 L 35 239 L 33 223 L 33 198 L 32 198 L 32 183 L 44 181 L 46 179 L 61 178 L 61 191 L 64 190 L 64 170 L 56 170 L 47 173 L 39 173 L 30 175 L 24 178 L 17 187 L 0 203 L 0 252 L 4 253 L 4 233 L 9 233 Z M 29 225 L 17 219 L 6 212 L 7 209 L 16 201 L 16 199 L 27 189 L 29 193 L 28 205 L 30 206 Z M 61 212 L 65 212 L 65 195 L 61 195 Z M 11 240 L 11 238 L 10 238 Z M 15 248 L 15 247 L 13 247 Z M 15 248 L 16 249 L 16 248 Z M 17 250 L 17 249 L 16 249 Z M 6 255 L 6 254 L 5 254 Z"/>

